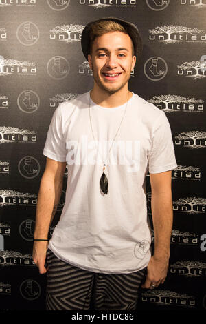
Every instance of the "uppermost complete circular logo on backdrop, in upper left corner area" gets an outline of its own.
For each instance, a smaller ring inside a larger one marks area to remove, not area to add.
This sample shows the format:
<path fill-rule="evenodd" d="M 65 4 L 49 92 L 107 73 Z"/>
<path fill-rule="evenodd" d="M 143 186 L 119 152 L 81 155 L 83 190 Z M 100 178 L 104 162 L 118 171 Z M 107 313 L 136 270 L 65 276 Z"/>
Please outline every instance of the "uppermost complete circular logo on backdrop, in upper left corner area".
<path fill-rule="evenodd" d="M 25 46 L 34 45 L 39 39 L 38 27 L 31 21 L 25 21 L 17 28 L 16 37 Z"/>

